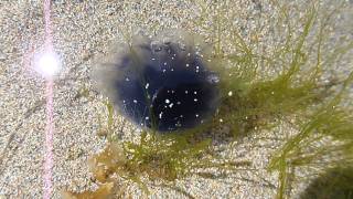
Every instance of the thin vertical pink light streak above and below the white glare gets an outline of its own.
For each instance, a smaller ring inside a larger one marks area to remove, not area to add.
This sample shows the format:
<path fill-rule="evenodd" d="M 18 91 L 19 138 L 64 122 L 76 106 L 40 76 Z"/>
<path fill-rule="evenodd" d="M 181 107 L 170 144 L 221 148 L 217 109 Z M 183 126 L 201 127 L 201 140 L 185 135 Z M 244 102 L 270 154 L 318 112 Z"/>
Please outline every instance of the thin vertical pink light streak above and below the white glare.
<path fill-rule="evenodd" d="M 44 20 L 45 20 L 45 44 L 44 51 L 53 52 L 52 39 L 52 22 L 51 22 L 51 0 L 44 0 Z M 46 128 L 45 128 L 45 151 L 44 151 L 44 187 L 43 198 L 50 199 L 53 190 L 52 169 L 54 165 L 53 157 L 53 134 L 54 134 L 54 119 L 53 119 L 53 87 L 54 81 L 50 76 L 46 78 Z"/>

